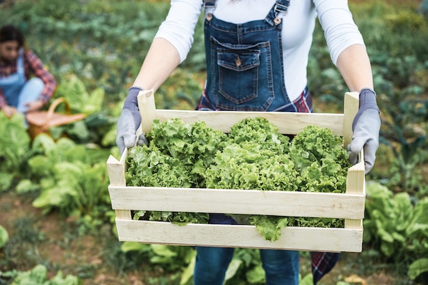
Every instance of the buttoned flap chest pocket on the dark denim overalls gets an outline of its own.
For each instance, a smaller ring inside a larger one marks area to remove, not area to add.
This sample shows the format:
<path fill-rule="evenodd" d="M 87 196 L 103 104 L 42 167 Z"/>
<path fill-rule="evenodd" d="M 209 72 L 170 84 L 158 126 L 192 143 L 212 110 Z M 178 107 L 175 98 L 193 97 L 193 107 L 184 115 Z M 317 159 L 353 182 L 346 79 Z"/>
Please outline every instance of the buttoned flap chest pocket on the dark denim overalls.
<path fill-rule="evenodd" d="M 224 110 L 265 111 L 273 101 L 269 42 L 225 44 L 211 38 L 215 105 Z"/>

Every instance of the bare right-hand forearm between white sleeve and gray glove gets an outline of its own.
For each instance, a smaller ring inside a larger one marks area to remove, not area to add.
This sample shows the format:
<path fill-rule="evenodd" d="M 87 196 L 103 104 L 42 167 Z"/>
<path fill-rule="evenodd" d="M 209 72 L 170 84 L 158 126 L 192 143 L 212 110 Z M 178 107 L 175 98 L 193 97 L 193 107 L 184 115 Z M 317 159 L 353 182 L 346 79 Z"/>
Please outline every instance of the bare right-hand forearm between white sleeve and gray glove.
<path fill-rule="evenodd" d="M 336 65 L 351 92 L 359 92 L 362 88 L 373 90 L 369 55 L 362 44 L 353 44 L 340 53 Z"/>

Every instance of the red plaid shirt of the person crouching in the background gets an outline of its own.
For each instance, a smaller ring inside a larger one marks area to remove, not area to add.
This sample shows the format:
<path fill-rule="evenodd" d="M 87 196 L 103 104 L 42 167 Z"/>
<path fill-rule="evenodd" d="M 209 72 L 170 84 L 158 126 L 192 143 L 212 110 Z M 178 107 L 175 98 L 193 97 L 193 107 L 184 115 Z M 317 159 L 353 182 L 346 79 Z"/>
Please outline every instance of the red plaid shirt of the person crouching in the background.
<path fill-rule="evenodd" d="M 42 61 L 32 51 L 25 51 L 24 53 L 24 70 L 25 78 L 28 80 L 31 77 L 38 77 L 44 82 L 44 89 L 40 94 L 39 100 L 45 105 L 53 96 L 53 92 L 57 87 L 57 83 L 53 75 L 44 68 Z M 0 61 L 0 77 L 9 77 L 16 72 L 16 60 L 13 62 Z M 8 105 L 3 90 L 0 87 L 0 108 Z"/>

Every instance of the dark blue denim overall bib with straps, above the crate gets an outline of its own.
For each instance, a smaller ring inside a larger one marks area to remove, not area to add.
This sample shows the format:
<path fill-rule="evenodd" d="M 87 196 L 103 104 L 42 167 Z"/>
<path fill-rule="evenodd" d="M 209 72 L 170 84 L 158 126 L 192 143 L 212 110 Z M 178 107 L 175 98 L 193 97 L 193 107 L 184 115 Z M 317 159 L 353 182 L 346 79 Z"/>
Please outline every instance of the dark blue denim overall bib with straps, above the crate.
<path fill-rule="evenodd" d="M 312 111 L 308 90 L 291 102 L 284 83 L 282 16 L 289 0 L 277 0 L 264 20 L 228 23 L 205 0 L 207 81 L 199 110 Z"/>

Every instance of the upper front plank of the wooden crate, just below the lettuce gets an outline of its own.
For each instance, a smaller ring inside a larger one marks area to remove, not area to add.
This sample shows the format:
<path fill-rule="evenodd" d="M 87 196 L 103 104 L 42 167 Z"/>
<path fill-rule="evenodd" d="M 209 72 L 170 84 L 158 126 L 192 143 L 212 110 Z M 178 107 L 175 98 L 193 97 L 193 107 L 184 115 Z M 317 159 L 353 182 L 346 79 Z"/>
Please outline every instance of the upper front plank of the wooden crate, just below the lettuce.
<path fill-rule="evenodd" d="M 113 209 L 362 219 L 364 195 L 296 191 L 109 187 Z"/>

